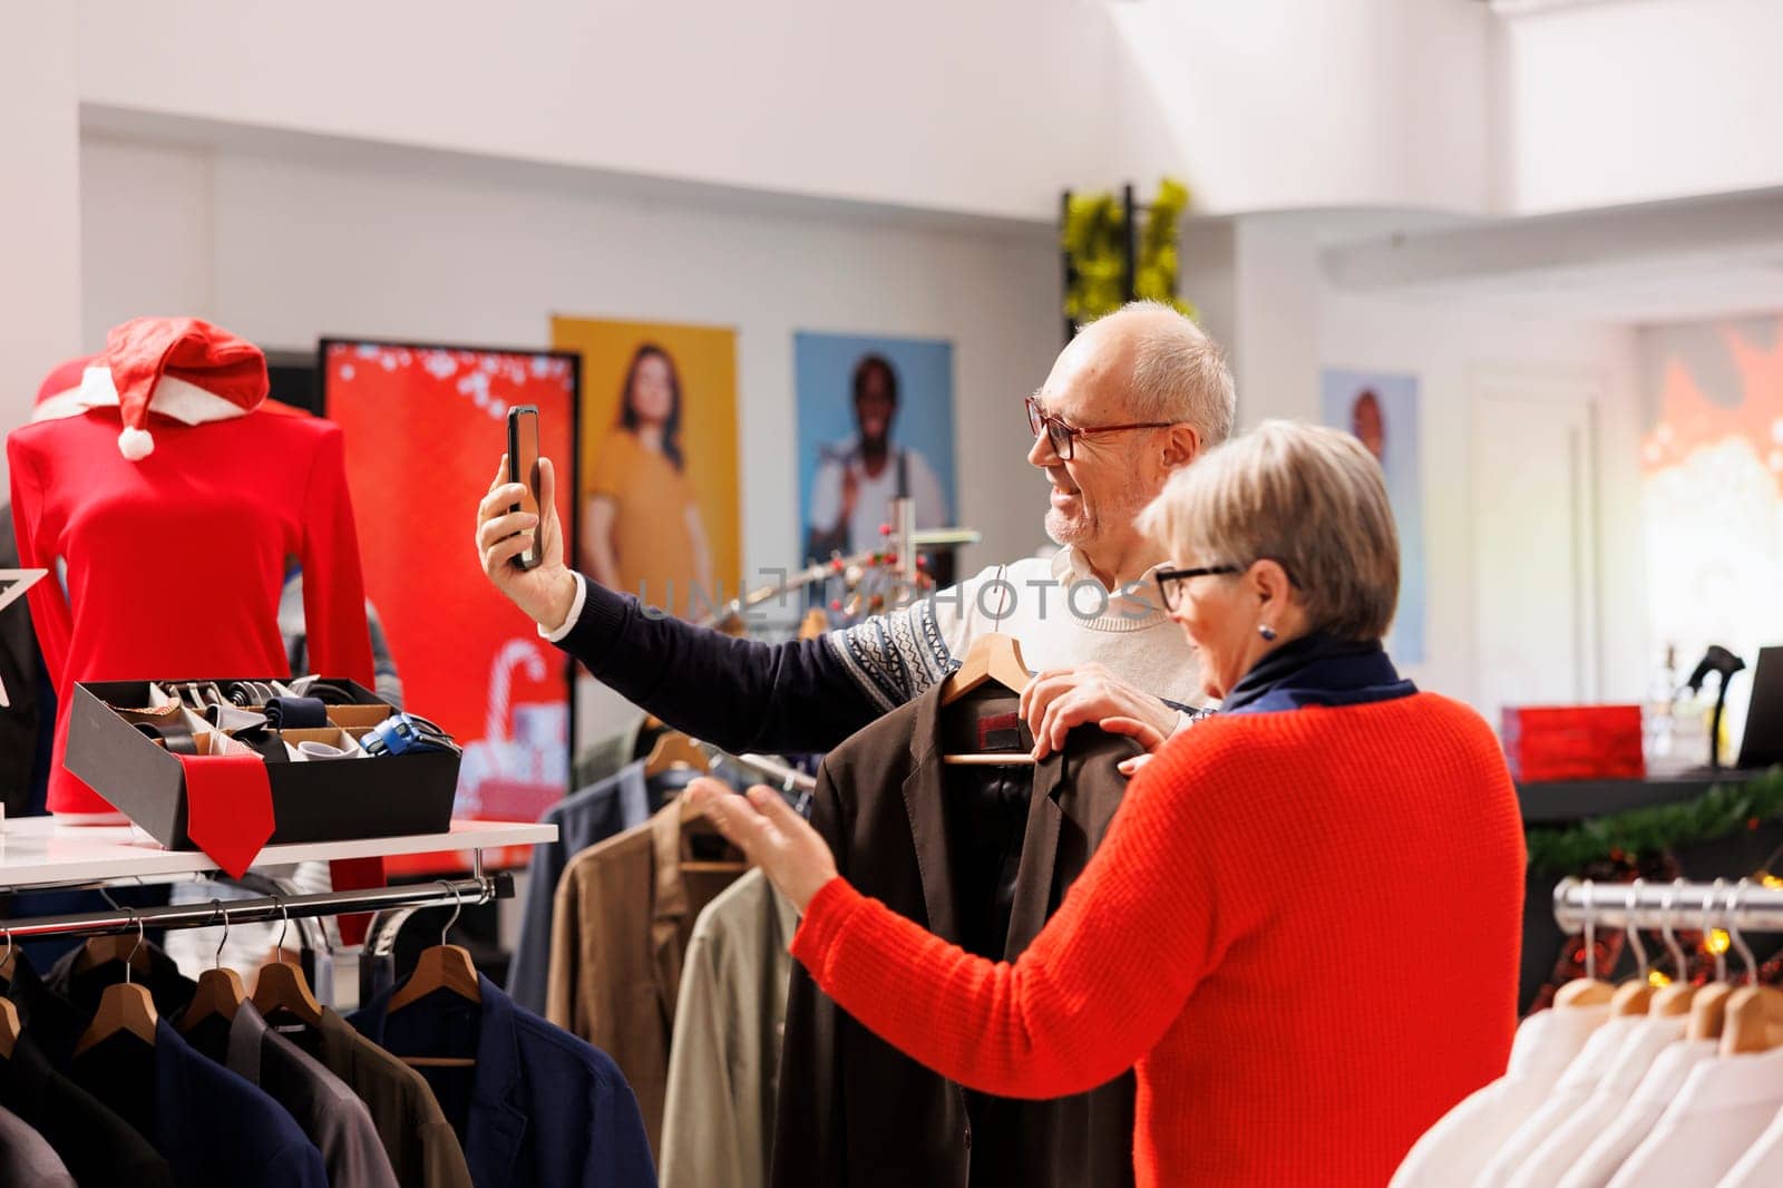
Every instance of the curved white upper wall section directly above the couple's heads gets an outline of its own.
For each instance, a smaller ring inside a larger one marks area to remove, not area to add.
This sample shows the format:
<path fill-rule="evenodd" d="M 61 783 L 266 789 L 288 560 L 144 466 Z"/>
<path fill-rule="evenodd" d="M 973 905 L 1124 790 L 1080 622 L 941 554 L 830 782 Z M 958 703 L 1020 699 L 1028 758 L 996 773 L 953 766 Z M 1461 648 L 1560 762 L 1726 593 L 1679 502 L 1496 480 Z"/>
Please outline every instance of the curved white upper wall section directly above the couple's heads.
<path fill-rule="evenodd" d="M 1211 214 L 1485 210 L 1491 14 L 1476 0 L 1114 4 L 1120 173 Z"/>

